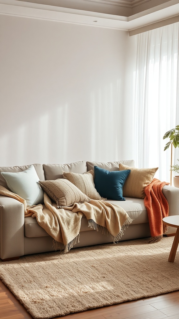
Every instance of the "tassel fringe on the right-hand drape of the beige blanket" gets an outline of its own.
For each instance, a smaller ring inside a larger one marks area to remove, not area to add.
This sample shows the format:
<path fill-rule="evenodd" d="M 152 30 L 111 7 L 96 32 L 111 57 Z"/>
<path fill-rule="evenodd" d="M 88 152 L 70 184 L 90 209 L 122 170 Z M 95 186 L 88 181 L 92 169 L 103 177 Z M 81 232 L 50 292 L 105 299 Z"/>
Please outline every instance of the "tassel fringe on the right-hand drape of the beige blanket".
<path fill-rule="evenodd" d="M 121 227 L 120 232 L 117 234 L 117 236 L 113 236 L 106 227 L 98 225 L 93 219 L 88 219 L 89 227 L 93 228 L 94 230 L 99 231 L 102 234 L 110 234 L 113 240 L 114 244 L 117 244 L 117 242 L 121 239 L 122 235 L 124 235 L 125 227 L 128 227 L 132 223 L 132 219 L 128 216 L 126 219 L 124 225 Z"/>

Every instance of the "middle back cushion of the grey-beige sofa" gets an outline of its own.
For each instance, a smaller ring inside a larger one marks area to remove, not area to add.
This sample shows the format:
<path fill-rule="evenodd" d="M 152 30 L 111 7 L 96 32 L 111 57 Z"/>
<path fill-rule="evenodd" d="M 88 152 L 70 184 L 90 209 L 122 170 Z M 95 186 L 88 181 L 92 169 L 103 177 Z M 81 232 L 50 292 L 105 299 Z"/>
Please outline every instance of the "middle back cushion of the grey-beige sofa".
<path fill-rule="evenodd" d="M 45 179 L 48 181 L 63 178 L 62 171 L 83 174 L 87 172 L 86 161 L 70 164 L 43 164 Z"/>

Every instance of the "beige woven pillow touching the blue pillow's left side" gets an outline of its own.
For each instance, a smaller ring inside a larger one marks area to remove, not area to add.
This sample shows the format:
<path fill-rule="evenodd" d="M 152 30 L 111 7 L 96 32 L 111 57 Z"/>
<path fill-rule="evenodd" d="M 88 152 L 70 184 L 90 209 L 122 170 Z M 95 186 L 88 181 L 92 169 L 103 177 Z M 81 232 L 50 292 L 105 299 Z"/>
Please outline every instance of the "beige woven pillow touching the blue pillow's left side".
<path fill-rule="evenodd" d="M 84 194 L 91 199 L 103 199 L 97 192 L 94 184 L 94 172 L 90 170 L 84 174 L 64 172 L 62 171 L 63 178 L 68 179 L 76 187 L 78 187 Z"/>

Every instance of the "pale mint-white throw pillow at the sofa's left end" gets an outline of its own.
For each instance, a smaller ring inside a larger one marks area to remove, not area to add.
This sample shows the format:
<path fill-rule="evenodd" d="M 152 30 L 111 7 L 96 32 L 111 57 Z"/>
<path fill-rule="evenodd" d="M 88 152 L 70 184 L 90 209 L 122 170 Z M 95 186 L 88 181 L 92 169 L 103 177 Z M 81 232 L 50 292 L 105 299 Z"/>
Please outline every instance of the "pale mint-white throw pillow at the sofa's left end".
<path fill-rule="evenodd" d="M 43 189 L 39 187 L 39 177 L 33 165 L 17 173 L 1 172 L 7 186 L 15 194 L 26 200 L 27 205 L 43 203 Z"/>

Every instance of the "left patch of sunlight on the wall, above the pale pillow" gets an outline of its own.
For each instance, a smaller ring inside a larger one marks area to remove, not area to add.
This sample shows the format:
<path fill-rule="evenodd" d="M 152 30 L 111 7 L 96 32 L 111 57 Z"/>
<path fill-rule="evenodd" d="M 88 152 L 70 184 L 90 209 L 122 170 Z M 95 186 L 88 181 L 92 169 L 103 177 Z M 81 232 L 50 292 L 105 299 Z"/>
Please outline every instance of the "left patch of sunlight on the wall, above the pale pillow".
<path fill-rule="evenodd" d="M 1 166 L 66 161 L 68 106 L 49 109 L 0 137 Z M 3 150 L 3 151 L 2 151 Z"/>

